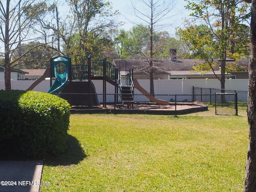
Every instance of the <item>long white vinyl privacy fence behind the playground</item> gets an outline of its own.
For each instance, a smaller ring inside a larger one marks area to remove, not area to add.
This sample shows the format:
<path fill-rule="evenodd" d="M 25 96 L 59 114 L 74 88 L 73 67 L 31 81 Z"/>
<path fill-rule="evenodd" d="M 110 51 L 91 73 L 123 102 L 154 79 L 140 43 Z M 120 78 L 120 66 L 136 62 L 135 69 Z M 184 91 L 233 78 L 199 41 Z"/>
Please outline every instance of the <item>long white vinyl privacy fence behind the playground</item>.
<path fill-rule="evenodd" d="M 34 81 L 33 80 L 11 80 L 12 89 L 26 90 Z M 102 80 L 93 80 L 97 94 L 103 93 Z M 149 80 L 138 80 L 140 85 L 150 92 Z M 122 82 L 124 85 L 125 82 Z M 202 88 L 220 88 L 220 81 L 215 79 L 175 79 L 175 80 L 154 80 L 155 94 L 193 94 L 193 86 Z M 114 86 L 107 83 L 107 94 L 114 93 Z M 0 81 L 0 90 L 4 90 L 4 81 Z M 47 92 L 50 89 L 50 80 L 40 82 L 34 91 Z M 248 90 L 248 79 L 227 79 L 225 89 L 229 90 Z M 134 94 L 141 94 L 135 89 Z"/>

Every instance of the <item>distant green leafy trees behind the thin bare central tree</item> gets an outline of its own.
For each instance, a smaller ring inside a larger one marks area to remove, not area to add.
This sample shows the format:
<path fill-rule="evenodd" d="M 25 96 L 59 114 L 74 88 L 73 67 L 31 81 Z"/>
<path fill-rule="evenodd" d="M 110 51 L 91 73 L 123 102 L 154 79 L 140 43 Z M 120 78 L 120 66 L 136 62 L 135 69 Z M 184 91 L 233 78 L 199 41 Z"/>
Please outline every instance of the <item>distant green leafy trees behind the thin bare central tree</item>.
<path fill-rule="evenodd" d="M 142 52 L 149 54 L 150 40 L 147 26 L 133 26 L 129 31 L 120 30 L 114 38 L 116 54 L 120 59 L 144 58 Z M 169 59 L 170 48 L 176 48 L 182 53 L 183 48 L 179 40 L 169 36 L 168 32 L 160 31 L 153 34 L 154 58 Z"/>

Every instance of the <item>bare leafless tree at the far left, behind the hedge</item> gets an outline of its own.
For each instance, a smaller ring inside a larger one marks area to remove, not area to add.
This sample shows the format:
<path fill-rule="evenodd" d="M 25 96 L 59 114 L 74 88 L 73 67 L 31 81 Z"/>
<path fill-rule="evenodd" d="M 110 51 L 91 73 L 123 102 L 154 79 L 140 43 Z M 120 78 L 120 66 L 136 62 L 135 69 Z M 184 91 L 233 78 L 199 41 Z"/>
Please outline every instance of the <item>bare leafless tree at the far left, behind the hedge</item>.
<path fill-rule="evenodd" d="M 4 56 L 6 90 L 11 89 L 11 69 L 18 65 L 22 56 L 27 54 L 27 52 L 20 53 L 19 57 L 12 59 L 15 51 L 20 49 L 21 43 L 31 42 L 29 52 L 38 46 L 32 42 L 46 40 L 48 37 L 46 31 L 40 30 L 40 21 L 47 18 L 48 11 L 46 0 L 40 3 L 36 0 L 19 0 L 13 3 L 11 0 L 6 0 L 5 6 L 3 1 L 0 1 L 0 43 L 4 44 L 0 54 Z"/>

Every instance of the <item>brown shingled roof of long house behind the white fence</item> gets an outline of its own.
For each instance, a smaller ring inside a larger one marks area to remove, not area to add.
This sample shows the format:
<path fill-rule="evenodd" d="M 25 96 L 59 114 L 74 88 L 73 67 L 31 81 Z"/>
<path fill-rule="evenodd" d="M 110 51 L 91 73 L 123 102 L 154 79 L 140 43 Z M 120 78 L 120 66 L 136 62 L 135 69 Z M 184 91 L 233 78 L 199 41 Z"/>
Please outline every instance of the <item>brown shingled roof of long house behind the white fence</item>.
<path fill-rule="evenodd" d="M 143 60 L 119 60 L 115 59 L 113 60 L 114 64 L 117 66 L 117 68 L 120 71 L 125 71 L 125 66 L 126 70 L 129 68 L 133 68 L 134 72 L 140 71 L 143 68 L 148 67 L 148 62 L 143 61 Z M 163 71 L 168 71 L 173 74 L 174 71 L 191 71 L 193 70 L 193 66 L 196 66 L 198 64 L 203 63 L 204 61 L 202 60 L 196 60 L 196 59 L 171 59 L 171 60 L 159 60 L 154 62 L 154 66 L 160 68 Z M 214 62 L 218 63 L 220 65 L 219 60 L 214 60 Z M 234 61 L 227 60 L 227 63 L 231 63 Z M 126 63 L 126 65 L 125 65 Z M 246 70 L 248 69 L 248 59 L 242 59 L 239 61 L 235 62 L 239 66 L 244 66 L 246 67 Z M 219 66 L 216 66 L 214 70 L 218 71 Z"/>

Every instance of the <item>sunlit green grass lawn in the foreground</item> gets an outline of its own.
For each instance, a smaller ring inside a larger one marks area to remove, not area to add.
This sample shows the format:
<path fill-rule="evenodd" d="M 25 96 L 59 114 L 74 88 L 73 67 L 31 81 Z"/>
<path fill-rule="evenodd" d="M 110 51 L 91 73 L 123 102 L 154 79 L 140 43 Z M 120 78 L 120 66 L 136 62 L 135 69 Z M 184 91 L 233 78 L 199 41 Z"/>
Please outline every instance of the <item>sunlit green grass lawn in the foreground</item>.
<path fill-rule="evenodd" d="M 71 115 L 68 134 L 67 152 L 44 161 L 42 192 L 243 189 L 243 116 Z"/>

